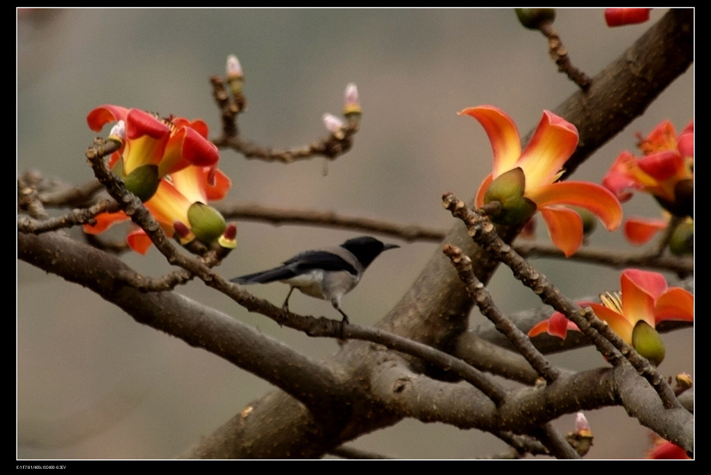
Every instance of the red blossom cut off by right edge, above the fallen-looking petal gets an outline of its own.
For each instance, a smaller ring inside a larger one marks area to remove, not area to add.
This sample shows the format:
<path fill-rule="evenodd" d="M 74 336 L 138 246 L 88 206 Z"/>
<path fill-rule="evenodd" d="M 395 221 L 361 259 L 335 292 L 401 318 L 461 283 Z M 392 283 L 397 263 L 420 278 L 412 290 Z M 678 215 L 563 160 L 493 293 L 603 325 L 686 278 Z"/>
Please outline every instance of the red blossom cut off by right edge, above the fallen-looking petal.
<path fill-rule="evenodd" d="M 638 148 L 643 157 L 629 151 L 615 160 L 603 185 L 620 201 L 627 201 L 639 190 L 653 195 L 675 216 L 693 216 L 694 122 L 677 136 L 670 121 L 663 121 Z"/>

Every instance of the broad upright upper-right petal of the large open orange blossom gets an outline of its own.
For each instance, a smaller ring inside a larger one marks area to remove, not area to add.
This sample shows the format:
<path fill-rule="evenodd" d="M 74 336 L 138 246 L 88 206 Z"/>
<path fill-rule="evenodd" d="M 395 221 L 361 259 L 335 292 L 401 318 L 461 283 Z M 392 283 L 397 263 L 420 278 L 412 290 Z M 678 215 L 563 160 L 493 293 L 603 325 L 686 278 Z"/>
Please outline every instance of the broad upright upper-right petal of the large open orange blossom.
<path fill-rule="evenodd" d="M 578 132 L 573 124 L 551 111 L 543 111 L 533 137 L 516 163 L 526 175 L 526 187 L 535 190 L 554 182 L 577 143 Z"/>

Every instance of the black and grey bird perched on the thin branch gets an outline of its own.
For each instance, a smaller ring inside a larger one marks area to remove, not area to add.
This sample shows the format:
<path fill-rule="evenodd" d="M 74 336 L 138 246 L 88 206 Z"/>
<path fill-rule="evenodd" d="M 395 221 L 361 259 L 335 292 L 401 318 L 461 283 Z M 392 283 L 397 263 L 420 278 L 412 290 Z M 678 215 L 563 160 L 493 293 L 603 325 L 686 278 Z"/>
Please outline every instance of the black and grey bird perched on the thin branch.
<path fill-rule="evenodd" d="M 370 263 L 387 249 L 399 248 L 397 244 L 384 244 L 371 236 L 348 239 L 340 246 L 303 251 L 284 261 L 282 266 L 267 271 L 242 275 L 230 279 L 240 285 L 283 282 L 291 286 L 282 308 L 289 310 L 289 297 L 297 288 L 306 295 L 331 301 L 333 308 L 348 324 L 348 315 L 341 309 L 341 297 L 358 285 Z"/>

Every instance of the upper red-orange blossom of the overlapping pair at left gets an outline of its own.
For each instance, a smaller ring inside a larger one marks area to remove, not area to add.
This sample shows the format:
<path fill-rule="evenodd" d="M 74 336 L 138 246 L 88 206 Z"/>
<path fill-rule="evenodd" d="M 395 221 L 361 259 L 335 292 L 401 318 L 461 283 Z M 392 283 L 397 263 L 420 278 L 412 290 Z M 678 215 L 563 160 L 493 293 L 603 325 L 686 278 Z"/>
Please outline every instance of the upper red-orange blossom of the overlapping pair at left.
<path fill-rule="evenodd" d="M 109 159 L 109 166 L 143 201 L 155 192 L 158 180 L 170 173 L 188 165 L 217 166 L 220 158 L 218 148 L 208 140 L 208 126 L 201 120 L 188 121 L 183 117 L 159 119 L 140 109 L 111 104 L 97 107 L 87 115 L 87 124 L 92 131 L 101 131 L 112 122 L 123 122 L 124 131 L 122 136 L 109 136 L 122 142 L 119 151 Z M 118 163 L 121 166 L 117 169 L 114 165 Z M 132 174 L 140 168 L 143 170 L 138 172 L 137 179 L 129 178 L 136 177 Z"/>

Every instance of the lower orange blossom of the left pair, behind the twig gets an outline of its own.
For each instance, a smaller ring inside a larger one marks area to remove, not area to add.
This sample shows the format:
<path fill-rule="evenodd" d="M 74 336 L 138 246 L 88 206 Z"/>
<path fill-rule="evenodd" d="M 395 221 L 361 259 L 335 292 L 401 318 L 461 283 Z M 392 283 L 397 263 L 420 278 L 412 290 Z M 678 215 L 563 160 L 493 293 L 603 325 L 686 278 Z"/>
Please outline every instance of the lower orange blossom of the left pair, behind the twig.
<path fill-rule="evenodd" d="M 207 203 L 223 199 L 230 184 L 230 179 L 220 170 L 190 166 L 161 180 L 158 190 L 144 205 L 167 236 L 178 237 L 183 246 L 197 239 L 210 247 L 225 234 L 227 225 L 222 215 Z M 124 212 L 100 213 L 95 218 L 95 225 L 84 226 L 88 234 L 100 234 L 129 219 Z M 176 234 L 176 228 L 187 230 L 187 234 Z M 139 228 L 129 232 L 127 242 L 131 249 L 141 254 L 151 246 L 150 238 Z"/>

